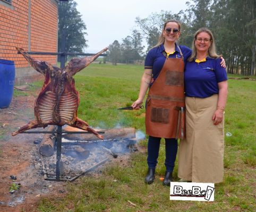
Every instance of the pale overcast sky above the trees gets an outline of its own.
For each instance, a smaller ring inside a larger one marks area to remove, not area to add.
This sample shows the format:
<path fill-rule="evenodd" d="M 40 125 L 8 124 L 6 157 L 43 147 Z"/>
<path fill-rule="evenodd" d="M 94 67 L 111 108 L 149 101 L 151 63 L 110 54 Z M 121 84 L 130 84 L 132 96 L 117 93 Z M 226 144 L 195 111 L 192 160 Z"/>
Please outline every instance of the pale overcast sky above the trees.
<path fill-rule="evenodd" d="M 85 52 L 96 53 L 114 40 L 120 43 L 132 34 L 135 17 L 146 18 L 151 13 L 185 10 L 187 0 L 75 0 L 76 9 L 86 23 L 88 48 Z"/>

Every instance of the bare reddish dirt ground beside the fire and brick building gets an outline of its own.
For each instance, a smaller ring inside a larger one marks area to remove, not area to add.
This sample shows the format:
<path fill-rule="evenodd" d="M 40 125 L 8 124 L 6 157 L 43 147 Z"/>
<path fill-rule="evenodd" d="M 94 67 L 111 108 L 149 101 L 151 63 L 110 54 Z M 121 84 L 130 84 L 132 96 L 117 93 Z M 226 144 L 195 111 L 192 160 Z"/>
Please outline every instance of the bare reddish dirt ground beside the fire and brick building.
<path fill-rule="evenodd" d="M 34 141 L 42 134 L 18 134 L 11 136 L 18 127 L 34 119 L 33 105 L 39 90 L 26 91 L 27 96 L 13 97 L 10 106 L 0 109 L 0 211 L 36 211 L 44 196 L 61 197 L 65 195 L 65 182 L 44 180 L 40 163 L 39 146 Z M 41 130 L 42 128 L 38 128 Z M 143 152 L 142 149 L 140 152 Z M 127 165 L 129 155 L 118 156 L 115 163 Z M 112 163 L 110 160 L 107 164 Z M 91 174 L 91 172 L 90 172 Z M 93 173 L 92 173 L 93 174 Z M 94 173 L 97 174 L 97 173 Z M 16 176 L 16 180 L 10 176 Z M 12 183 L 21 187 L 10 193 Z"/>

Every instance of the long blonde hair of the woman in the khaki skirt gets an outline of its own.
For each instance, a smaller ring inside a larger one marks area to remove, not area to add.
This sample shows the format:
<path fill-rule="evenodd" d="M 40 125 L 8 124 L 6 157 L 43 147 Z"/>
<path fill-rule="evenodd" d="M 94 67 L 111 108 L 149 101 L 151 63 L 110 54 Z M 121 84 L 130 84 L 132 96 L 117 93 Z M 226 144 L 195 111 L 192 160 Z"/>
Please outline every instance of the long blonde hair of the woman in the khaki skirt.
<path fill-rule="evenodd" d="M 201 32 L 206 32 L 210 36 L 211 45 L 208 49 L 208 56 L 211 57 L 211 58 L 218 58 L 218 57 L 221 56 L 221 55 L 217 55 L 217 53 L 216 53 L 216 45 L 215 45 L 215 40 L 214 40 L 214 36 L 213 36 L 212 32 L 207 28 L 200 28 L 194 34 L 194 39 L 193 39 L 193 42 L 192 42 L 192 54 L 189 57 L 189 59 L 187 59 L 190 62 L 192 62 L 194 60 L 194 58 L 197 57 L 197 49 L 195 48 L 195 40 L 197 39 L 198 34 L 201 33 Z"/>

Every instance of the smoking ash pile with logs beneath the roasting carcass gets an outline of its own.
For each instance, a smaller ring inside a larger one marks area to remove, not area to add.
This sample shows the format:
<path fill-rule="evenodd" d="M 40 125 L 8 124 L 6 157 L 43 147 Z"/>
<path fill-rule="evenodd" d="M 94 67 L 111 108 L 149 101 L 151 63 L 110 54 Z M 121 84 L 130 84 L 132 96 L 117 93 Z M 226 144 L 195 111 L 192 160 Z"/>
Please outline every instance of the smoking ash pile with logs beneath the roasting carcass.
<path fill-rule="evenodd" d="M 55 126 L 50 126 L 39 145 L 40 162 L 45 179 L 56 178 L 56 134 Z M 70 126 L 64 126 L 64 131 L 83 131 Z M 91 134 L 62 135 L 61 162 L 59 173 L 63 180 L 76 179 L 79 176 L 95 170 L 107 161 L 138 151 L 134 128 L 116 128 L 104 130 L 104 140 Z M 97 171 L 101 171 L 99 167 Z"/>

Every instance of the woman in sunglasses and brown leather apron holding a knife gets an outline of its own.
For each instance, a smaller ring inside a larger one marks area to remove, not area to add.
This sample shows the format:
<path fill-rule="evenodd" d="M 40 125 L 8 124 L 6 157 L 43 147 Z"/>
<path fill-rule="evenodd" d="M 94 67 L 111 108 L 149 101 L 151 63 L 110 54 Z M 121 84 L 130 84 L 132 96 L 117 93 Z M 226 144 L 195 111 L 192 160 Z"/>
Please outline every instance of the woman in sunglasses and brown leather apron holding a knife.
<path fill-rule="evenodd" d="M 139 109 L 149 89 L 146 102 L 148 140 L 148 173 L 145 182 L 155 179 L 160 140 L 165 138 L 166 172 L 164 185 L 170 185 L 177 154 L 177 139 L 184 137 L 184 61 L 191 49 L 178 46 L 181 25 L 176 20 L 164 24 L 158 44 L 149 50 L 141 80 L 139 98 L 132 107 Z"/>

